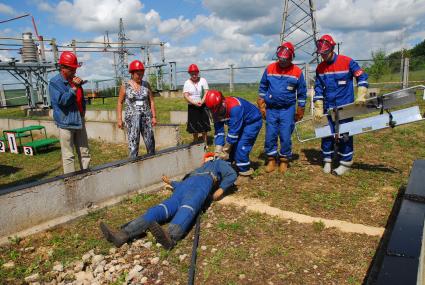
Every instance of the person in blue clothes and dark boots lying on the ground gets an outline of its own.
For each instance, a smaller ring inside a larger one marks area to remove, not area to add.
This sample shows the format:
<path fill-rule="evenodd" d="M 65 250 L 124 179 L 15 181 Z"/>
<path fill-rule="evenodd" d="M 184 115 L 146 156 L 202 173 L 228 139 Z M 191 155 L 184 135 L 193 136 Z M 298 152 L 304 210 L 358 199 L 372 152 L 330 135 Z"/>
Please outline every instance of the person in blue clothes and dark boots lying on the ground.
<path fill-rule="evenodd" d="M 213 193 L 213 200 L 220 199 L 236 180 L 236 172 L 230 163 L 214 159 L 214 153 L 205 155 L 205 163 L 192 171 L 182 181 L 163 181 L 172 189 L 173 194 L 160 204 L 148 209 L 145 214 L 121 226 L 118 231 L 111 230 L 100 223 L 105 238 L 116 247 L 140 237 L 148 229 L 157 242 L 168 250 L 183 238 L 201 211 L 205 201 Z M 160 224 L 170 221 L 168 230 Z"/>

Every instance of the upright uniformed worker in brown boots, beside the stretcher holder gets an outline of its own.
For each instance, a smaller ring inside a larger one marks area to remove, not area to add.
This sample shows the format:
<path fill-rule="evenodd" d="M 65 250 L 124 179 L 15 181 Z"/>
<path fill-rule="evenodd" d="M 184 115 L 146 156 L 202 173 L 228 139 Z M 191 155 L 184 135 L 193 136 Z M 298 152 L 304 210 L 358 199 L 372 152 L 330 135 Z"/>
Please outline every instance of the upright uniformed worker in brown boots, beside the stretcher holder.
<path fill-rule="evenodd" d="M 291 136 L 295 122 L 304 116 L 307 88 L 301 69 L 292 63 L 295 57 L 292 43 L 282 43 L 276 56 L 278 60 L 267 66 L 261 78 L 257 104 L 266 119 L 266 172 L 276 169 L 276 157 L 279 156 L 279 172 L 284 173 L 292 158 Z"/>

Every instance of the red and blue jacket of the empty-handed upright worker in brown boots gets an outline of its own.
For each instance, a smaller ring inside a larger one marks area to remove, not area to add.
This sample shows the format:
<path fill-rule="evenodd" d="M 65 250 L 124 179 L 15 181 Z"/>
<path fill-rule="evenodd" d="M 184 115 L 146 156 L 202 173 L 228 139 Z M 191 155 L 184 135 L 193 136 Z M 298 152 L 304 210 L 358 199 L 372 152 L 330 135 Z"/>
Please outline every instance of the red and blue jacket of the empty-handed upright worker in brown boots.
<path fill-rule="evenodd" d="M 278 62 L 267 66 L 260 81 L 258 95 L 266 102 L 267 108 L 287 108 L 294 105 L 304 108 L 307 88 L 301 69 L 292 64 L 281 68 Z"/>

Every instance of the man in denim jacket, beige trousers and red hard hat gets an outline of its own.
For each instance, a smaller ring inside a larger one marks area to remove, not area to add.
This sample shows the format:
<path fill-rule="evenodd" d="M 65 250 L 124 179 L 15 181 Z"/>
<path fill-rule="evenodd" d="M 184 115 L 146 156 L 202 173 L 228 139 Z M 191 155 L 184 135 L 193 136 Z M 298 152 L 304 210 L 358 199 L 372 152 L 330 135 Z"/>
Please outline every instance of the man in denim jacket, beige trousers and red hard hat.
<path fill-rule="evenodd" d="M 80 66 L 74 53 L 64 51 L 59 58 L 59 74 L 49 82 L 53 119 L 59 128 L 65 174 L 75 171 L 74 145 L 80 168 L 87 169 L 90 164 L 89 145 L 84 124 L 86 103 L 81 87 L 83 80 L 75 76 L 77 68 Z"/>

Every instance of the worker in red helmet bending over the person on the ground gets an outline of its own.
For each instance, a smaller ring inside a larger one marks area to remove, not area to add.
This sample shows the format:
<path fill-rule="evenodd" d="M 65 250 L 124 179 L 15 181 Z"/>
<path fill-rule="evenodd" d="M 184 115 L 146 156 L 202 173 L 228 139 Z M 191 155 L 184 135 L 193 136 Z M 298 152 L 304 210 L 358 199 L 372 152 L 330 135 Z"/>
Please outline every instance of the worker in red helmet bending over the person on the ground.
<path fill-rule="evenodd" d="M 215 152 L 221 159 L 236 163 L 239 176 L 235 185 L 244 184 L 254 172 L 249 154 L 263 124 L 260 110 L 245 99 L 224 97 L 217 90 L 209 90 L 205 96 L 205 105 L 214 117 Z M 228 125 L 227 136 L 225 124 Z"/>

